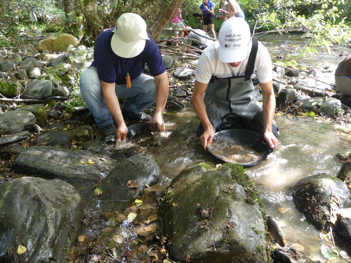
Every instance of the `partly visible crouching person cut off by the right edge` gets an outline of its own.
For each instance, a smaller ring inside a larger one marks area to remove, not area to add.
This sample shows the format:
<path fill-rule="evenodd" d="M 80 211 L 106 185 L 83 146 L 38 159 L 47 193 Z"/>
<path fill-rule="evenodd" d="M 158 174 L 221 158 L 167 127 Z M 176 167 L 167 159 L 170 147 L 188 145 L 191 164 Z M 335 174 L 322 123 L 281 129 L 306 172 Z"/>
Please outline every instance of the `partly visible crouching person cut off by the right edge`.
<path fill-rule="evenodd" d="M 335 85 L 344 95 L 340 101 L 351 107 L 351 54 L 338 65 L 335 71 Z"/>

